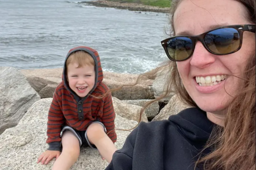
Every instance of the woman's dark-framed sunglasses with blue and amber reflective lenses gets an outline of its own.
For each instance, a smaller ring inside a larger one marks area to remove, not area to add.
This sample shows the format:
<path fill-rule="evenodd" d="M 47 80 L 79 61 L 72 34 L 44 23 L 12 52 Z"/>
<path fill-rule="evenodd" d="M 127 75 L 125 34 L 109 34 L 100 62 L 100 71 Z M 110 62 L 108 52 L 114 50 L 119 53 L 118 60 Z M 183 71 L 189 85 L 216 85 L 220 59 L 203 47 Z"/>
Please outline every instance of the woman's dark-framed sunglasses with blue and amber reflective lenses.
<path fill-rule="evenodd" d="M 207 31 L 197 36 L 175 36 L 161 41 L 167 57 L 172 61 L 184 61 L 191 57 L 196 41 L 215 55 L 227 55 L 237 52 L 243 42 L 243 32 L 255 32 L 255 25 L 229 25 Z"/>

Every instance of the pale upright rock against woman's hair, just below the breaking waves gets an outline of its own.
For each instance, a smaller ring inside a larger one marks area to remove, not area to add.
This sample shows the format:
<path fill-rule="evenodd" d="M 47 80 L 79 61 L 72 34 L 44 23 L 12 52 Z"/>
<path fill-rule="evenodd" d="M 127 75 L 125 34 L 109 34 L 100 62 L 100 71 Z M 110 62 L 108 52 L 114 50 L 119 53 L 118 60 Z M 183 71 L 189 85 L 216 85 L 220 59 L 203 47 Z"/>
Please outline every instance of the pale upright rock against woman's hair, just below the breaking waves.
<path fill-rule="evenodd" d="M 166 88 L 164 87 L 164 85 L 166 84 L 166 81 L 168 81 L 167 78 L 169 75 L 170 75 L 169 69 L 164 69 L 164 68 L 163 68 L 163 70 L 160 70 L 157 73 L 156 78 L 153 82 L 153 91 L 154 91 L 155 98 L 161 96 L 165 92 Z M 169 94 L 169 96 L 167 96 L 159 101 L 167 103 L 173 95 L 174 95 L 174 92 L 171 92 Z"/>

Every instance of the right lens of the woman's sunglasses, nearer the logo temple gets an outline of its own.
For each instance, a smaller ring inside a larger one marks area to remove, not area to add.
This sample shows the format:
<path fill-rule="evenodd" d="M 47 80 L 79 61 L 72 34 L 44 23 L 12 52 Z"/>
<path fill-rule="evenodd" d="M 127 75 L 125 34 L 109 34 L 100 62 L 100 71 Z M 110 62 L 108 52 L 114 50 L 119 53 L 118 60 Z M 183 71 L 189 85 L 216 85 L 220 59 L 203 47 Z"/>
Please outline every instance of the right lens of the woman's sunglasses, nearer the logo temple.
<path fill-rule="evenodd" d="M 239 48 L 240 36 L 234 28 L 221 28 L 207 33 L 204 42 L 213 53 L 228 54 Z"/>

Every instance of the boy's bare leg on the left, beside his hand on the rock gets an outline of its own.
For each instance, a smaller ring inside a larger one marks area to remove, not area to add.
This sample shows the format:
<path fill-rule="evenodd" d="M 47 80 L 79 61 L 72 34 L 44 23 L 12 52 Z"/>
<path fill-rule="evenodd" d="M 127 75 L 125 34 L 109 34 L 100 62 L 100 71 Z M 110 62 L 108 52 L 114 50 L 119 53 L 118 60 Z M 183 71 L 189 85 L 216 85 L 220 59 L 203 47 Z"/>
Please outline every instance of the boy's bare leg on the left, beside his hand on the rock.
<path fill-rule="evenodd" d="M 79 141 L 72 132 L 66 130 L 61 138 L 61 143 L 62 152 L 53 164 L 52 170 L 68 170 L 79 157 Z"/>

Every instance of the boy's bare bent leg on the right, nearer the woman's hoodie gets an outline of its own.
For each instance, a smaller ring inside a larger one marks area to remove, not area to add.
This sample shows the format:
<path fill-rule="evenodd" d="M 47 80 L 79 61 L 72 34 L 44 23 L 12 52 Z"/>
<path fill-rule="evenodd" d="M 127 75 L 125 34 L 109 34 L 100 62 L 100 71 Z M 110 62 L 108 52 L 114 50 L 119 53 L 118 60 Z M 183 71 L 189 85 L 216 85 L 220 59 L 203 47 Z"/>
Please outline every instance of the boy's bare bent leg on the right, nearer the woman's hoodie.
<path fill-rule="evenodd" d="M 99 123 L 93 123 L 87 128 L 87 137 L 89 141 L 95 145 L 101 156 L 103 156 L 108 163 L 111 162 L 116 147 L 105 133 L 103 126 Z"/>

